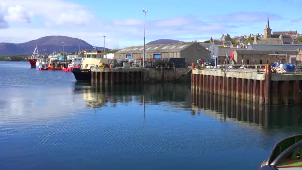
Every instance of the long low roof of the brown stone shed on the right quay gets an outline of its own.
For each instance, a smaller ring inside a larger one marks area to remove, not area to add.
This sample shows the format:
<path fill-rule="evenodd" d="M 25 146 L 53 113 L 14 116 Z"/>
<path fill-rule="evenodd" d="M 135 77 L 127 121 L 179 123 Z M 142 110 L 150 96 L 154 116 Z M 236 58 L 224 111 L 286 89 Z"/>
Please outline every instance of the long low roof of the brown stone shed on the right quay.
<path fill-rule="evenodd" d="M 236 50 L 236 52 L 238 55 L 298 54 L 298 50 Z"/>

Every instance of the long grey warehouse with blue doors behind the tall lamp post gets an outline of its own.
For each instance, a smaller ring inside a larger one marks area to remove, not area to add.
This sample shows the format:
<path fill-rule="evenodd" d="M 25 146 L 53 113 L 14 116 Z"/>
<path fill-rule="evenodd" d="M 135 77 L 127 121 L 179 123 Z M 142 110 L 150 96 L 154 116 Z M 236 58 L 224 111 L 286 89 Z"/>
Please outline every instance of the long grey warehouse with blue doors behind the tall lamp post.
<path fill-rule="evenodd" d="M 114 54 L 115 59 L 143 58 L 144 46 L 126 47 Z M 188 63 L 198 59 L 210 59 L 210 51 L 198 42 L 180 42 L 175 44 L 157 44 L 145 46 L 145 59 L 185 58 Z"/>

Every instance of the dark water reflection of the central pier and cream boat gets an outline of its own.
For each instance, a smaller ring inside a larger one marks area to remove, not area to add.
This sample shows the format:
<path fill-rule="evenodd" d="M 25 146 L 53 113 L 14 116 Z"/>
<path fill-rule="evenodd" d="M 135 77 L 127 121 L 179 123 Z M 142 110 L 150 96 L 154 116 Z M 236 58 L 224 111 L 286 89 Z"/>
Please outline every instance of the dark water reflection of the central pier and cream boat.
<path fill-rule="evenodd" d="M 107 107 L 108 104 L 116 106 L 117 103 L 143 104 L 144 101 L 171 101 L 175 106 L 178 106 L 176 102 L 181 102 L 182 107 L 191 106 L 190 95 L 184 95 L 190 94 L 190 84 L 182 83 L 86 86 L 75 92 L 83 93 L 88 108 Z"/>

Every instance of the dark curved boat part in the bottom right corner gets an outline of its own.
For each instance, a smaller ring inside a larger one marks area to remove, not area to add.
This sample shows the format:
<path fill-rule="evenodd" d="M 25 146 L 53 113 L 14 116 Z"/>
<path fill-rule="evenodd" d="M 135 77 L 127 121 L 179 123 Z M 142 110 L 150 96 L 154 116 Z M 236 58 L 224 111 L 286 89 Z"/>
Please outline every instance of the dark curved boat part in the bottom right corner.
<path fill-rule="evenodd" d="M 302 134 L 279 141 L 259 170 L 302 170 Z"/>

